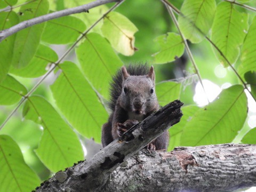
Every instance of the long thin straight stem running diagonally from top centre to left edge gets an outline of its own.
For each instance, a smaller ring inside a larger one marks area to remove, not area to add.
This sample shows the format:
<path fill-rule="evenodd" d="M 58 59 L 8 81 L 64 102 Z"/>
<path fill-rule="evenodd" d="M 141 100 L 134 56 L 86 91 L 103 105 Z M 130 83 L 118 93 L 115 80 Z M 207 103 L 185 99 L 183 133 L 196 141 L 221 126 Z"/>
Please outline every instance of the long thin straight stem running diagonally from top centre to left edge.
<path fill-rule="evenodd" d="M 77 40 L 76 42 L 69 47 L 69 49 L 62 55 L 62 57 L 55 63 L 52 63 L 52 67 L 51 69 L 49 69 L 49 71 L 47 71 L 47 73 L 36 83 L 36 85 L 20 100 L 19 104 L 17 107 L 15 107 L 15 109 L 13 109 L 13 111 L 11 112 L 11 114 L 5 119 L 5 121 L 3 122 L 3 124 L 0 126 L 0 130 L 4 127 L 4 125 L 9 121 L 9 119 L 12 117 L 12 115 L 19 109 L 19 107 L 21 106 L 21 104 L 37 89 L 37 87 L 44 81 L 44 79 L 59 65 L 59 63 L 62 61 L 62 59 L 64 59 L 67 54 L 76 46 L 76 44 L 81 41 L 81 39 L 87 34 L 89 33 L 89 31 L 97 25 L 98 22 L 100 22 L 100 20 L 102 20 L 109 12 L 113 11 L 114 9 L 116 9 L 117 6 L 119 6 L 121 3 L 123 3 L 124 0 L 119 1 L 118 3 L 116 3 L 113 7 L 111 7 L 105 14 L 102 15 L 101 18 L 99 18 L 97 21 L 95 21 L 93 23 L 93 25 L 88 28 Z"/>

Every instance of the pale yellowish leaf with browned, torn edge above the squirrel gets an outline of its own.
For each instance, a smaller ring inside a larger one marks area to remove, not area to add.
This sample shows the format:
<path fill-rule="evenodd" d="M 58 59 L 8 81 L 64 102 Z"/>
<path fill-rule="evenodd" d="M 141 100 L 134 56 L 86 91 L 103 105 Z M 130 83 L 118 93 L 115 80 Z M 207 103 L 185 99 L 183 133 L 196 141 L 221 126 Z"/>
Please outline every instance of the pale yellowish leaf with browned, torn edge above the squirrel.
<path fill-rule="evenodd" d="M 104 18 L 101 31 L 117 52 L 126 56 L 133 55 L 135 51 L 134 33 L 138 29 L 124 15 L 117 12 L 110 12 Z"/>

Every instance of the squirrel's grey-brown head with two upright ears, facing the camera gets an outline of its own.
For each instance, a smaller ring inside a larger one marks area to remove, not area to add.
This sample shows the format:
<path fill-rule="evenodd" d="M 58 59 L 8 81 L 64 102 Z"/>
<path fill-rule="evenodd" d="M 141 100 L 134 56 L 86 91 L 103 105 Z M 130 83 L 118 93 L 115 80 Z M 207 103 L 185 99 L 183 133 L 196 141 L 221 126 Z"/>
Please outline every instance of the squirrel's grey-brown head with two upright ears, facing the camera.
<path fill-rule="evenodd" d="M 146 115 L 158 105 L 155 93 L 155 71 L 151 66 L 147 75 L 130 75 L 122 67 L 123 87 L 121 106 L 137 115 Z"/>

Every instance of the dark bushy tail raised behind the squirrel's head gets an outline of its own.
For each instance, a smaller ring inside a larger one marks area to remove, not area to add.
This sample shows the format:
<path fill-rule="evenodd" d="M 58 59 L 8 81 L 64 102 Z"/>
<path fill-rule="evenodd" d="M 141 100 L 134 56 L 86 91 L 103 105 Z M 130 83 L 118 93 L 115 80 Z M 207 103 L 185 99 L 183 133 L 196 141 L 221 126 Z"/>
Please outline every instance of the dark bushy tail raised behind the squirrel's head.
<path fill-rule="evenodd" d="M 130 75 L 147 75 L 149 71 L 149 66 L 147 64 L 133 64 L 125 66 L 127 72 Z M 122 71 L 119 69 L 116 75 L 112 78 L 112 82 L 110 83 L 110 102 L 109 108 L 114 111 L 116 106 L 116 101 L 119 95 L 122 93 L 122 84 L 123 77 Z"/>

